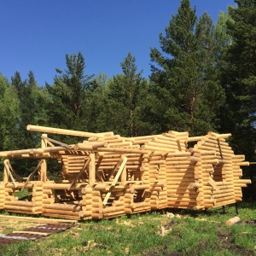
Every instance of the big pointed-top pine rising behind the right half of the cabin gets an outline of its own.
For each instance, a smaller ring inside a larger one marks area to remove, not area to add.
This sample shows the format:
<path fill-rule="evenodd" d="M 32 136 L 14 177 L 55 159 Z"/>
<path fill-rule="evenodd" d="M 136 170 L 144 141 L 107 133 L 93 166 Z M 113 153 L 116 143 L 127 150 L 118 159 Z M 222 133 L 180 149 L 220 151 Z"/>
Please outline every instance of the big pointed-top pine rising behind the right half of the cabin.
<path fill-rule="evenodd" d="M 154 119 L 160 131 L 205 134 L 218 128 L 218 110 L 224 90 L 218 81 L 215 27 L 206 13 L 197 18 L 189 0 L 172 15 L 160 48 L 151 49 Z"/>

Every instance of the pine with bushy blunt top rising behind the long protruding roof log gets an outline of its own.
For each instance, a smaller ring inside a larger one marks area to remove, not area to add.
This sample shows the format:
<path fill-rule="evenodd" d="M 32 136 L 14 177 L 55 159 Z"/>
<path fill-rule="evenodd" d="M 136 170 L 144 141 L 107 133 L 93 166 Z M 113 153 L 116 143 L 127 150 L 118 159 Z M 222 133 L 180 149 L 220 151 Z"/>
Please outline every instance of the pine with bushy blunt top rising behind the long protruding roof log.
<path fill-rule="evenodd" d="M 84 74 L 85 61 L 81 52 L 66 55 L 67 70 L 56 68 L 54 84 L 46 84 L 52 102 L 49 104 L 50 124 L 55 127 L 87 130 L 86 93 L 91 78 Z"/>

